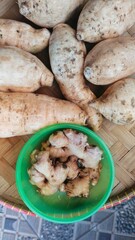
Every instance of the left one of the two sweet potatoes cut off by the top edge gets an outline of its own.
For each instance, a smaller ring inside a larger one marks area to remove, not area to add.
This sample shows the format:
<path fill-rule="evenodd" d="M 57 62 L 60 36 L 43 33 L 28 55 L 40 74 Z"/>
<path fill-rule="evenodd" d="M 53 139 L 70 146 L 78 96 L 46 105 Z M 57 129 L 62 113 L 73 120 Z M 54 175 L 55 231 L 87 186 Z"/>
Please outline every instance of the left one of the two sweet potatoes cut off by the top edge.
<path fill-rule="evenodd" d="M 67 21 L 85 0 L 18 0 L 20 13 L 41 27 Z"/>

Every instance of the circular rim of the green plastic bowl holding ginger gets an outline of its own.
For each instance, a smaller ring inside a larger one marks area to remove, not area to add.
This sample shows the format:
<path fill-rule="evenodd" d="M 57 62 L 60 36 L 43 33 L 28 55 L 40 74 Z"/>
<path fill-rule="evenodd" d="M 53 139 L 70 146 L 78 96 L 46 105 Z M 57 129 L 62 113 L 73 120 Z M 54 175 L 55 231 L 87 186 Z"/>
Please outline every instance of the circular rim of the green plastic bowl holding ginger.
<path fill-rule="evenodd" d="M 87 213 L 83 214 L 83 215 L 78 215 L 77 217 L 72 217 L 72 218 L 68 218 L 68 219 L 64 219 L 64 218 L 54 218 L 51 216 L 48 216 L 45 213 L 42 213 L 41 211 L 39 211 L 30 201 L 29 199 L 27 199 L 25 192 L 23 190 L 22 187 L 20 187 L 20 169 L 21 169 L 21 159 L 22 159 L 22 155 L 24 155 L 25 153 L 25 149 L 27 148 L 27 145 L 31 144 L 31 142 L 33 141 L 33 139 L 38 139 L 38 137 L 44 133 L 46 130 L 53 130 L 56 131 L 58 129 L 67 129 L 67 128 L 72 128 L 75 129 L 77 131 L 82 131 L 83 133 L 86 133 L 87 135 L 89 134 L 91 138 L 94 137 L 94 140 L 99 142 L 101 144 L 101 146 L 106 150 L 109 159 L 110 159 L 110 166 L 111 166 L 111 178 L 110 178 L 110 183 L 109 183 L 109 187 L 105 193 L 105 195 L 103 196 L 103 198 L 99 201 L 99 203 L 94 207 L 94 209 L 92 211 L 88 211 Z M 98 210 L 100 210 L 100 208 L 106 203 L 107 199 L 110 196 L 110 193 L 112 191 L 113 188 L 113 184 L 114 184 L 114 179 L 115 179 L 115 168 L 114 168 L 114 161 L 111 155 L 111 152 L 109 150 L 109 148 L 107 147 L 107 145 L 105 144 L 105 142 L 102 140 L 102 138 L 100 138 L 97 133 L 93 132 L 92 130 L 90 130 L 87 127 L 78 125 L 78 124 L 72 124 L 72 123 L 59 123 L 59 124 L 53 124 L 51 126 L 47 126 L 41 130 L 39 130 L 38 132 L 36 132 L 23 146 L 22 150 L 20 151 L 20 154 L 18 156 L 18 160 L 16 163 L 16 186 L 18 189 L 18 192 L 22 198 L 22 200 L 24 201 L 24 203 L 26 204 L 26 206 L 36 215 L 40 216 L 41 218 L 45 219 L 45 220 L 49 220 L 51 222 L 54 223 L 62 223 L 62 224 L 69 224 L 69 223 L 75 223 L 75 222 L 79 222 L 82 221 L 90 216 L 92 216 L 93 214 L 95 214 Z"/>

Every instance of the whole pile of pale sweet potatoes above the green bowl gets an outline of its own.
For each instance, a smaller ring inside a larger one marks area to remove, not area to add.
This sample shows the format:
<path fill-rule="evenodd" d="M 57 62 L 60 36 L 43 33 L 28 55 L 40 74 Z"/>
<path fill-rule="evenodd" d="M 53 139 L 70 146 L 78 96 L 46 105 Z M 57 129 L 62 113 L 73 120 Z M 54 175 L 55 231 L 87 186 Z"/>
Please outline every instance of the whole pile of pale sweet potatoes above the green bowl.
<path fill-rule="evenodd" d="M 37 26 L 0 19 L 1 138 L 60 122 L 97 131 L 102 116 L 116 124 L 135 121 L 135 80 L 129 77 L 135 38 L 122 35 L 135 23 L 135 1 L 18 0 L 18 6 Z M 69 22 L 77 12 L 73 29 Z M 85 42 L 96 45 L 87 52 Z M 47 47 L 51 69 L 33 55 Z M 53 80 L 66 100 L 32 93 Z M 97 99 L 86 80 L 109 87 Z"/>

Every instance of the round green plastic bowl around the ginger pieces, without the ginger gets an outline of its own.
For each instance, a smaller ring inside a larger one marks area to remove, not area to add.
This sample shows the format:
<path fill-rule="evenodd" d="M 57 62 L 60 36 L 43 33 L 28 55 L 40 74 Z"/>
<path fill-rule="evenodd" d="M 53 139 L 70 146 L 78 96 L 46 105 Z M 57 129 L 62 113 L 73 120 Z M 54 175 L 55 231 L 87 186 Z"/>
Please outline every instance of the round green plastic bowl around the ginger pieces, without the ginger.
<path fill-rule="evenodd" d="M 31 152 L 35 148 L 40 148 L 41 143 L 46 141 L 53 132 L 66 128 L 86 134 L 90 144 L 96 144 L 103 150 L 100 180 L 95 187 L 91 187 L 90 196 L 87 199 L 69 198 L 61 192 L 52 196 L 42 196 L 29 182 L 27 170 L 31 167 Z M 36 215 L 56 223 L 73 223 L 90 217 L 105 204 L 112 191 L 114 172 L 111 153 L 96 133 L 77 124 L 56 124 L 37 132 L 22 148 L 16 165 L 16 185 L 22 200 Z"/>

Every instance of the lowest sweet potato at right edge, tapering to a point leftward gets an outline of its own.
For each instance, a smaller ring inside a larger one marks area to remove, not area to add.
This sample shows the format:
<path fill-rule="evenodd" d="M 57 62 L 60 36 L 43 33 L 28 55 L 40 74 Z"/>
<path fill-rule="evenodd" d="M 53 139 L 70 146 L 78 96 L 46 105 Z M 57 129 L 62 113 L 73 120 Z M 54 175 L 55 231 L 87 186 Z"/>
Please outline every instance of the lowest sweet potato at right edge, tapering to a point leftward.
<path fill-rule="evenodd" d="M 116 124 L 135 121 L 135 79 L 126 78 L 114 83 L 90 104 L 103 116 Z"/>

